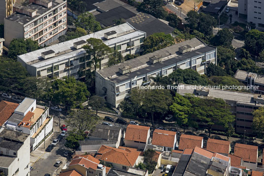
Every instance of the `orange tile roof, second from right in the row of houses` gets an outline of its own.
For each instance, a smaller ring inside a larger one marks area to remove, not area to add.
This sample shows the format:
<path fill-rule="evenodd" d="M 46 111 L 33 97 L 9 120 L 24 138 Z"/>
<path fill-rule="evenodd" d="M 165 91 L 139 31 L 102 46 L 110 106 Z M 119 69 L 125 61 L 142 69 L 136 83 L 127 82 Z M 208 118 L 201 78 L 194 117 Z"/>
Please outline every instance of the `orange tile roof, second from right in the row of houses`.
<path fill-rule="evenodd" d="M 215 140 L 209 138 L 207 141 L 206 149 L 216 153 L 229 154 L 230 141 Z"/>

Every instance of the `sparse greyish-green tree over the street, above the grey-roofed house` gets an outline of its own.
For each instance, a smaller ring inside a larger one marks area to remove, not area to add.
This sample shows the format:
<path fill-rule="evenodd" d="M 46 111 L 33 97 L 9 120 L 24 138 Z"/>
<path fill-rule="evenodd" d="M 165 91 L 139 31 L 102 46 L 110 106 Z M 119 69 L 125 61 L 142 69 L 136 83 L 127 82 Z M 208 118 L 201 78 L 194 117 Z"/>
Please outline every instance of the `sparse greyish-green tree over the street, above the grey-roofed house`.
<path fill-rule="evenodd" d="M 91 130 L 98 122 L 99 117 L 89 109 L 72 110 L 66 118 L 66 123 L 71 129 L 84 133 Z"/>

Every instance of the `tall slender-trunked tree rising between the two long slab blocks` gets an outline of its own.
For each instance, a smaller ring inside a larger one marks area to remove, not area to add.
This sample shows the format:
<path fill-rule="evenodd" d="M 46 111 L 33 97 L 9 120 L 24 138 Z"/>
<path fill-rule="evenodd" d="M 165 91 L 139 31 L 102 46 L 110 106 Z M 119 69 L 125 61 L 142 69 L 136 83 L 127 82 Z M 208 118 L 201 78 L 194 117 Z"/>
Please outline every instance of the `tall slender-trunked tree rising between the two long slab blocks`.
<path fill-rule="evenodd" d="M 101 59 L 107 54 L 111 53 L 111 49 L 102 42 L 99 38 L 89 38 L 87 39 L 87 45 L 84 45 L 83 48 L 86 50 L 87 54 L 93 56 L 93 65 L 95 70 L 99 64 L 99 70 L 101 70 Z"/>

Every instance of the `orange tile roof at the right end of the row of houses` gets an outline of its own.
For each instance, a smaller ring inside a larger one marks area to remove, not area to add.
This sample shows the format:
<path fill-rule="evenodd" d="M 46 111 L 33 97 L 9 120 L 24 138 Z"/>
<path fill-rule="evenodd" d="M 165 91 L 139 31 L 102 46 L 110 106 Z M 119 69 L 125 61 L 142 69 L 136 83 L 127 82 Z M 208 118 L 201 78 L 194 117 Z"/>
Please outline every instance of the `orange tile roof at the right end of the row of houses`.
<path fill-rule="evenodd" d="M 258 146 L 235 143 L 234 155 L 241 157 L 243 161 L 256 163 L 258 159 Z"/>

